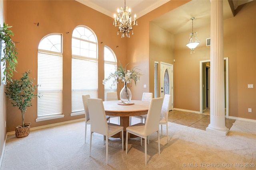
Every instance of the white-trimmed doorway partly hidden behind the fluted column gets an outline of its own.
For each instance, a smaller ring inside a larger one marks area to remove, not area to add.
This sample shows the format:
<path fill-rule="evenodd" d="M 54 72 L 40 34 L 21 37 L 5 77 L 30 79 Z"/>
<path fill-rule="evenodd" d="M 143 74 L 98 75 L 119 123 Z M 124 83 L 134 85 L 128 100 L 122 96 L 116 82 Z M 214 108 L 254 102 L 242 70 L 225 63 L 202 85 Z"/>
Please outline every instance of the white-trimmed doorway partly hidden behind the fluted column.
<path fill-rule="evenodd" d="M 228 118 L 228 57 L 224 58 L 224 93 Z M 210 114 L 210 60 L 200 61 L 200 113 Z"/>

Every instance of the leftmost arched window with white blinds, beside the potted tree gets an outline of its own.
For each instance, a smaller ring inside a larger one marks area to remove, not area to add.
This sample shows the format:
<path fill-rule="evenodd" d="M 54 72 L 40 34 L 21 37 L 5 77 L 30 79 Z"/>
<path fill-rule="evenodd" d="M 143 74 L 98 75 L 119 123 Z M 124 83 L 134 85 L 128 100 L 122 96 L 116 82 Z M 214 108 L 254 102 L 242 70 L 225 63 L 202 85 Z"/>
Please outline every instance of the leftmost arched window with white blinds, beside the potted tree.
<path fill-rule="evenodd" d="M 62 34 L 46 35 L 38 45 L 38 85 L 36 121 L 62 115 Z"/>

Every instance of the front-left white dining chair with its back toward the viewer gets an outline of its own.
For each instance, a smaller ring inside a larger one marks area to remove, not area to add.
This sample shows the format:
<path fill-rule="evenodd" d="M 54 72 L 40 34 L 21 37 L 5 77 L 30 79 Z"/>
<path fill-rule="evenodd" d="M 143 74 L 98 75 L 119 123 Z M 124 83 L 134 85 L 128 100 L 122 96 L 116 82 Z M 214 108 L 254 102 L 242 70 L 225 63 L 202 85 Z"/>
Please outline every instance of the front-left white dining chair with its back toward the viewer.
<path fill-rule="evenodd" d="M 122 132 L 122 150 L 124 151 L 124 127 L 113 123 L 107 123 L 106 113 L 102 99 L 88 98 L 88 110 L 90 114 L 90 156 L 92 147 L 92 133 L 99 133 L 106 137 L 106 163 L 108 164 L 108 138 Z"/>

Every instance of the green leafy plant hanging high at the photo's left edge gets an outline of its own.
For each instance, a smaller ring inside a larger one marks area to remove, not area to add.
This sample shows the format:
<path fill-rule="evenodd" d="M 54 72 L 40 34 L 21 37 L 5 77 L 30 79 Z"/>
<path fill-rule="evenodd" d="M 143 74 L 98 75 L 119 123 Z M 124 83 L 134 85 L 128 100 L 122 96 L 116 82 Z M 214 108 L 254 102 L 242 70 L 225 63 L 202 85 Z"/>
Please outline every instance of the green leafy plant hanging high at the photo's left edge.
<path fill-rule="evenodd" d="M 1 43 L 1 51 L 2 51 L 2 43 L 4 43 L 3 47 L 3 57 L 1 55 L 1 62 L 3 62 L 4 66 L 4 77 L 3 81 L 12 82 L 13 72 L 16 71 L 16 65 L 18 63 L 18 52 L 15 47 L 14 41 L 12 41 L 12 37 L 14 34 L 10 30 L 12 26 L 8 26 L 8 24 L 3 25 L 0 27 L 0 43 Z"/>

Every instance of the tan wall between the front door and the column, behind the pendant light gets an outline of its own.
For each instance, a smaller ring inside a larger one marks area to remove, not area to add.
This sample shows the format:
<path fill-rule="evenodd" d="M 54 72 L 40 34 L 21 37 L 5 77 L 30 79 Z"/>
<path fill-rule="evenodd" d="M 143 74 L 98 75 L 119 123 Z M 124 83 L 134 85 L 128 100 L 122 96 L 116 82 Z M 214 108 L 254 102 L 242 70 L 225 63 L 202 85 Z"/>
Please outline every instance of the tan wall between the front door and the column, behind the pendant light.
<path fill-rule="evenodd" d="M 174 43 L 174 108 L 200 111 L 200 61 L 210 60 L 210 25 L 194 30 L 200 44 L 195 53 L 186 47 L 190 32 L 175 35 Z"/>

